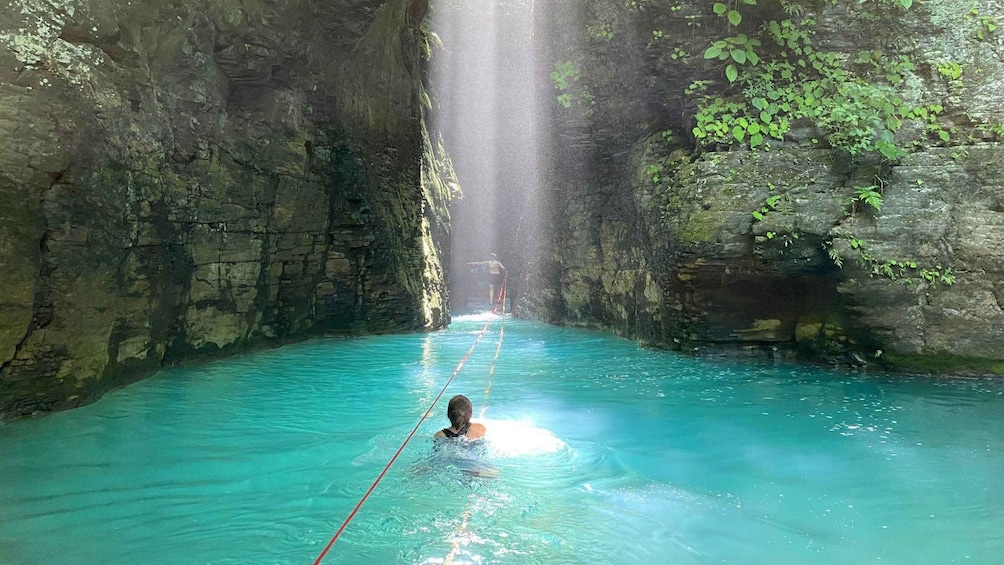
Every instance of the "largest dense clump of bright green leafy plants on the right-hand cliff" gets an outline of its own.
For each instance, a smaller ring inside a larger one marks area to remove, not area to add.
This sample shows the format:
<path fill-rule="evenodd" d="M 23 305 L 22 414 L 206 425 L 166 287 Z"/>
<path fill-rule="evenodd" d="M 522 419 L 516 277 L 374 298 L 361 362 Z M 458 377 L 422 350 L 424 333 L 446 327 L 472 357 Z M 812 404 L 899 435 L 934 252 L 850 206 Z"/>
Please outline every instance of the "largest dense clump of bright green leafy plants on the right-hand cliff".
<path fill-rule="evenodd" d="M 706 59 L 728 62 L 726 77 L 743 89 L 742 97 L 705 95 L 693 129 L 699 145 L 738 143 L 757 149 L 769 138 L 782 139 L 793 121 L 809 119 L 826 131 L 831 147 L 851 155 L 874 152 L 889 160 L 907 155 L 894 133 L 910 108 L 894 83 L 904 80 L 913 63 L 864 52 L 856 62 L 872 67 L 884 81 L 872 82 L 845 68 L 835 53 L 816 51 L 814 25 L 811 18 L 764 24 L 764 35 L 778 51 L 763 60 L 752 51 L 759 40 L 742 34 L 705 50 Z M 747 50 L 758 64 L 751 64 Z"/>

